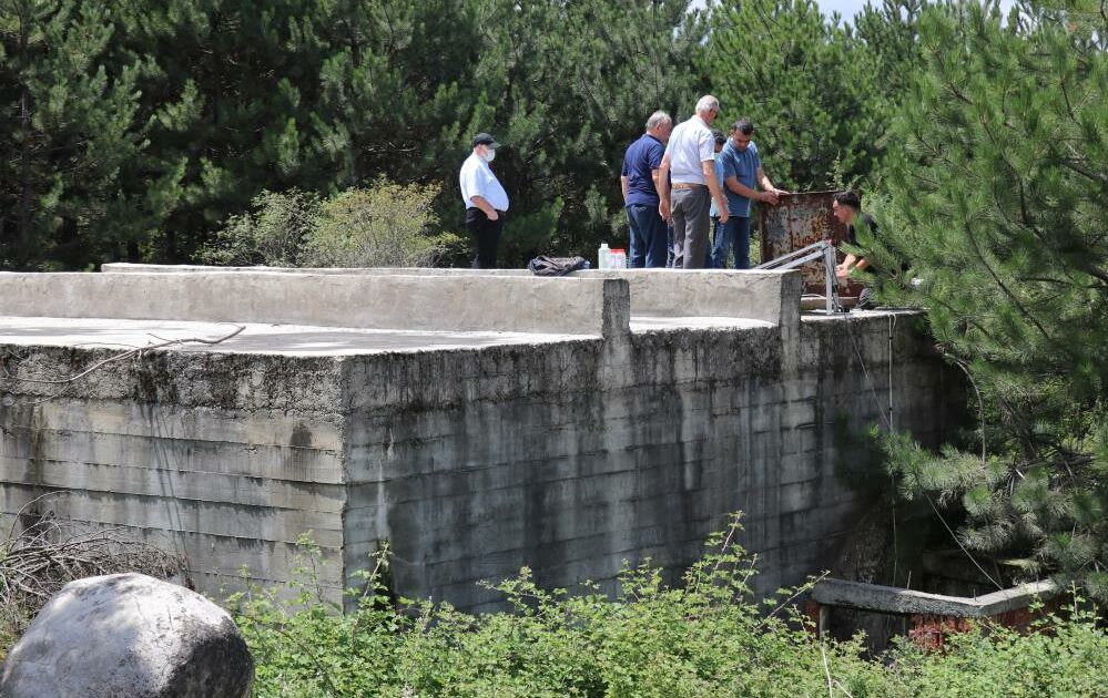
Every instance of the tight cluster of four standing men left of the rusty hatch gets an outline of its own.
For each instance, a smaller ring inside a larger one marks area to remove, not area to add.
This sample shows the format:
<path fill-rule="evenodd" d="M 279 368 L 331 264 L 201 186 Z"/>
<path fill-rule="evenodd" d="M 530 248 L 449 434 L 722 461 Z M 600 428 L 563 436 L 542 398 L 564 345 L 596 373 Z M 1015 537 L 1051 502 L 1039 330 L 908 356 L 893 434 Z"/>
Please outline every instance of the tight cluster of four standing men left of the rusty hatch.
<path fill-rule="evenodd" d="M 734 268 L 750 267 L 750 203 L 776 204 L 787 192 L 762 168 L 751 120 L 735 121 L 724 135 L 712 129 L 719 113 L 712 95 L 677 126 L 654 112 L 627 148 L 620 182 L 631 267 L 725 269 L 732 256 Z"/>

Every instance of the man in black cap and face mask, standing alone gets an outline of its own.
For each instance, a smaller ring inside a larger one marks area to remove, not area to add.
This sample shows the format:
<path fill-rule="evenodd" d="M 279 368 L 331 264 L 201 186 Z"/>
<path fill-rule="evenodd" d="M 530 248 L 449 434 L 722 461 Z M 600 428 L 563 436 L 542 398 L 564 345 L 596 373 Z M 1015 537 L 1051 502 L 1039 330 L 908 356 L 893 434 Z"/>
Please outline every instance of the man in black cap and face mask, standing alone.
<path fill-rule="evenodd" d="M 496 248 L 508 211 L 508 194 L 489 167 L 500 144 L 489 134 L 478 133 L 472 145 L 474 153 L 461 164 L 458 175 L 466 202 L 466 229 L 477 245 L 474 268 L 495 269 Z"/>

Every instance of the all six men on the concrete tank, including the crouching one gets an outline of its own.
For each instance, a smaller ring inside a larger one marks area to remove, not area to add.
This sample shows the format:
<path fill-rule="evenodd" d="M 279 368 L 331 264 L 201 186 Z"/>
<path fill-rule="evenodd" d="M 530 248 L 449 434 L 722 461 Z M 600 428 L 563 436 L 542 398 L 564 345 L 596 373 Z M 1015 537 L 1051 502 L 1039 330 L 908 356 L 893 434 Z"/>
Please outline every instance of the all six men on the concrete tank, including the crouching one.
<path fill-rule="evenodd" d="M 735 269 L 750 267 L 751 202 L 776 205 L 789 192 L 773 186 L 762 168 L 751 120 L 739 119 L 724 135 L 712 129 L 719 114 L 720 101 L 710 94 L 675 126 L 669 114 L 657 111 L 647 119 L 646 133 L 627 148 L 620 184 L 631 268 L 725 269 L 732 258 Z M 496 267 L 508 195 L 489 167 L 499 143 L 479 133 L 471 147 L 459 175 L 466 228 L 477 247 L 474 267 L 490 269 Z M 852 244 L 858 218 L 876 230 L 853 192 L 835 196 L 833 213 L 847 226 Z M 835 271 L 845 279 L 866 266 L 864 258 L 847 255 Z M 862 307 L 870 305 L 868 298 L 860 300 Z"/>

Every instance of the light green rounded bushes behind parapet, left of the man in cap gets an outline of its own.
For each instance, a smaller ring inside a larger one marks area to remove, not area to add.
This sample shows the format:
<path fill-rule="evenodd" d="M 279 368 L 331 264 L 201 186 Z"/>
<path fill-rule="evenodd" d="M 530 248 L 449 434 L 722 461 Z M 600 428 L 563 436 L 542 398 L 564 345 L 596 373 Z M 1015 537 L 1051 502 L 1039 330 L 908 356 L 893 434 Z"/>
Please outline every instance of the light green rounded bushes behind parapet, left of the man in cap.
<path fill-rule="evenodd" d="M 425 267 L 460 238 L 431 235 L 437 186 L 378 179 L 321 201 L 293 189 L 263 192 L 253 212 L 232 216 L 200 257 L 215 265 Z"/>

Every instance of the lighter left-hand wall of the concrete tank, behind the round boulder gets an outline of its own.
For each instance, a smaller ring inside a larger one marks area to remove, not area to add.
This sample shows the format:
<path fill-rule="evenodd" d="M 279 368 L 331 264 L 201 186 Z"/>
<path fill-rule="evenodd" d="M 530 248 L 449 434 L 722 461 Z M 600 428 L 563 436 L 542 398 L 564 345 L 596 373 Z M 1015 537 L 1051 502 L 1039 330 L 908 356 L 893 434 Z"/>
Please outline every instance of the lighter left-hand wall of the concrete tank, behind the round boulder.
<path fill-rule="evenodd" d="M 69 376 L 115 351 L 3 346 L 20 376 Z M 156 352 L 95 371 L 67 394 L 3 381 L 0 512 L 43 514 L 185 554 L 199 588 L 234 586 L 247 566 L 287 578 L 307 531 L 343 546 L 342 362 Z M 41 501 L 35 497 L 54 493 Z M 340 585 L 336 565 L 324 582 Z"/>

